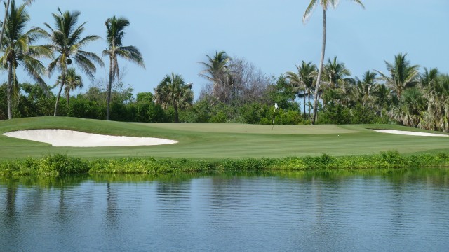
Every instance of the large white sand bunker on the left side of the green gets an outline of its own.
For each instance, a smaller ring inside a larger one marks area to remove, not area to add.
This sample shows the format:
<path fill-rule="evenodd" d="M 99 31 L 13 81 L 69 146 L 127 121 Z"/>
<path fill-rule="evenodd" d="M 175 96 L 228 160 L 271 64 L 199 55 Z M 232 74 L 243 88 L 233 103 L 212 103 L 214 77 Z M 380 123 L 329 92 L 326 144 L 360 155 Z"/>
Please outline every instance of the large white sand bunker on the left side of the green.
<path fill-rule="evenodd" d="M 176 144 L 177 141 L 154 137 L 115 137 L 73 130 L 19 130 L 4 133 L 7 137 L 40 141 L 52 146 L 102 147 L 102 146 L 153 146 Z"/>

